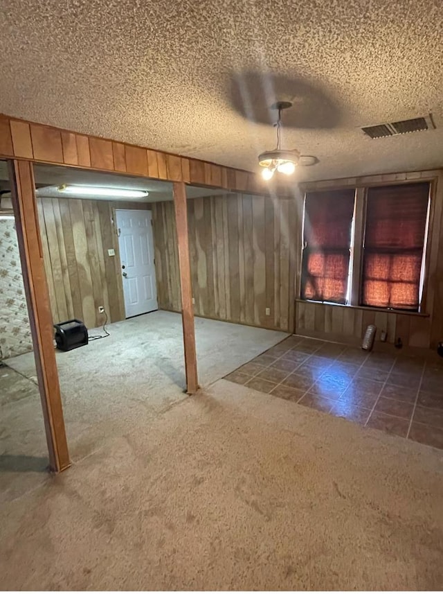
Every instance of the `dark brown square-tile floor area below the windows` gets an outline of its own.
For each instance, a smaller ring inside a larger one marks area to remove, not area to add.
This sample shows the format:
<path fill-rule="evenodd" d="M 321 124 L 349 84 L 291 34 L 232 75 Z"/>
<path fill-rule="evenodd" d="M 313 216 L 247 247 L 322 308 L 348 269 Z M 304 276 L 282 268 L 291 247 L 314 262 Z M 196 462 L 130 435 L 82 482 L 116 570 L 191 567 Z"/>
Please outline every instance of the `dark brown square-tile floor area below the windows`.
<path fill-rule="evenodd" d="M 443 449 L 443 359 L 293 335 L 225 379 Z"/>

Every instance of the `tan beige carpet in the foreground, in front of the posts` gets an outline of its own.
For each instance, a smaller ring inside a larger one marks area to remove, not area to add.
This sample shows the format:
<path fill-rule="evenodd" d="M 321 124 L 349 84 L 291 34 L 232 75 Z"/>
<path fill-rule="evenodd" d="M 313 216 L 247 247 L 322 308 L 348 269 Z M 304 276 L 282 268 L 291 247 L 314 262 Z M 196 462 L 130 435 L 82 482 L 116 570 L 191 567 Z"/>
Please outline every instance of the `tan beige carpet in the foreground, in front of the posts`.
<path fill-rule="evenodd" d="M 0 511 L 11 589 L 433 590 L 440 451 L 217 381 Z"/>

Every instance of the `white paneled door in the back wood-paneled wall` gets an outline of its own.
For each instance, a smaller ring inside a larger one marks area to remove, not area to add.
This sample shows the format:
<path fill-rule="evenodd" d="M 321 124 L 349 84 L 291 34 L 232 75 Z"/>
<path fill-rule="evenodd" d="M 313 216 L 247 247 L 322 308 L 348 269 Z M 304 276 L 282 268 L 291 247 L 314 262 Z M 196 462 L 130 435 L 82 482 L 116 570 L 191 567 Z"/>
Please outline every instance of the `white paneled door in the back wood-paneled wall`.
<path fill-rule="evenodd" d="M 126 317 L 159 308 L 151 211 L 116 210 Z"/>

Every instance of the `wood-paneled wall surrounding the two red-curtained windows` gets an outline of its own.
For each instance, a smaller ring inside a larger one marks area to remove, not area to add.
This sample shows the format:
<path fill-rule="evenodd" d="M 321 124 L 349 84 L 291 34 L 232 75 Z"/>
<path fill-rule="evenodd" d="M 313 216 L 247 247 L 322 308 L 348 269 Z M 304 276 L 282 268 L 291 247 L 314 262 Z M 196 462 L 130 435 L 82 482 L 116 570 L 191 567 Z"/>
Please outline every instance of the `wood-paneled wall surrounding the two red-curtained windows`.
<path fill-rule="evenodd" d="M 296 333 L 359 344 L 368 324 L 375 324 L 379 329 L 376 340 L 379 340 L 381 330 L 385 330 L 388 333 L 389 344 L 393 344 L 397 338 L 401 338 L 405 347 L 435 349 L 437 343 L 443 340 L 442 171 L 392 173 L 354 177 L 347 180 L 311 182 L 304 184 L 303 189 L 305 191 L 348 187 L 358 189 L 423 180 L 431 182 L 431 211 L 423 296 L 423 311 L 427 315 L 315 304 L 298 300 L 296 304 Z"/>

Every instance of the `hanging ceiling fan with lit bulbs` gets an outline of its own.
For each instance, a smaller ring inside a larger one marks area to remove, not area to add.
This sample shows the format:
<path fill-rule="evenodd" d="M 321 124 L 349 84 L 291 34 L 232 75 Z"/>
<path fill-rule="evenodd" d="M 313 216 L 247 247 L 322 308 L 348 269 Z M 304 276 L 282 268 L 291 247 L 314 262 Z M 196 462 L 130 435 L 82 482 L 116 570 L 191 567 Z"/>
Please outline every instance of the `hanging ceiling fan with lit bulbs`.
<path fill-rule="evenodd" d="M 275 128 L 277 128 L 277 147 L 273 150 L 265 150 L 261 155 L 258 155 L 258 162 L 264 167 L 262 170 L 264 180 L 271 180 L 275 171 L 284 173 L 284 175 L 292 175 L 296 171 L 297 165 L 310 166 L 318 163 L 316 157 L 300 155 L 300 151 L 296 148 L 292 150 L 282 149 L 282 111 L 289 109 L 289 107 L 292 107 L 290 101 L 278 101 L 271 106 L 273 110 L 278 110 L 278 120 L 274 124 Z"/>

